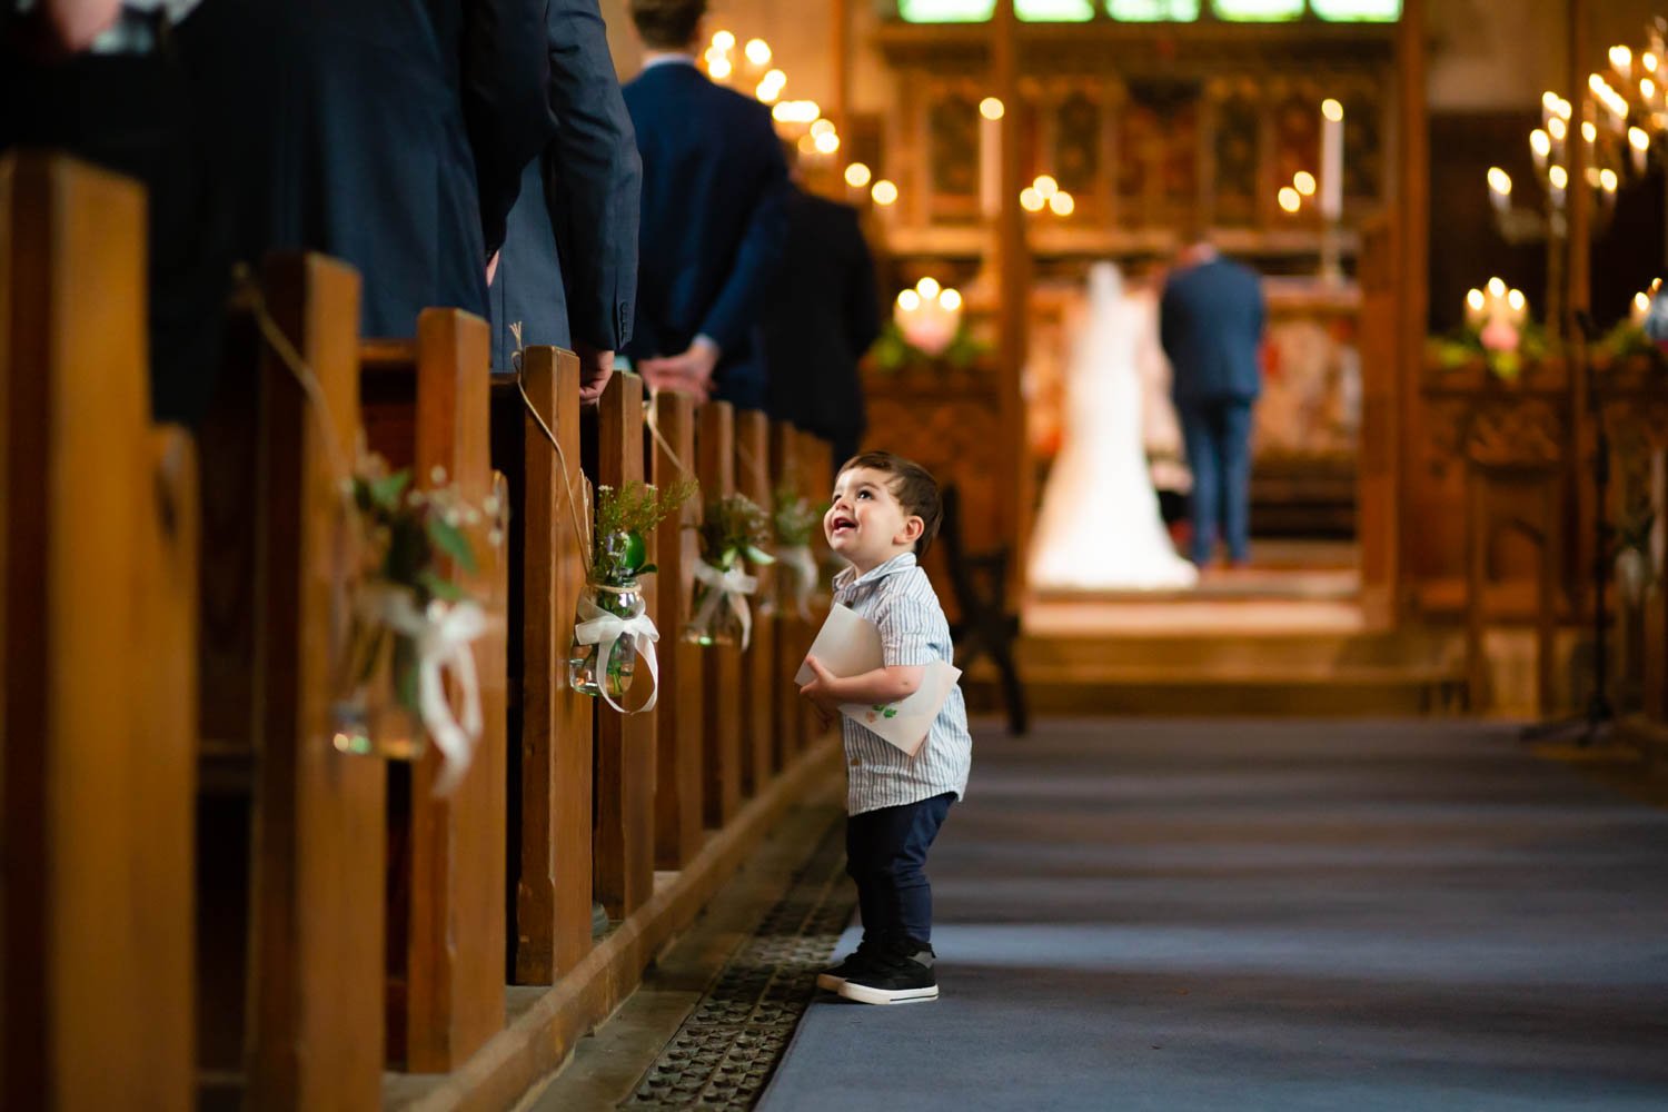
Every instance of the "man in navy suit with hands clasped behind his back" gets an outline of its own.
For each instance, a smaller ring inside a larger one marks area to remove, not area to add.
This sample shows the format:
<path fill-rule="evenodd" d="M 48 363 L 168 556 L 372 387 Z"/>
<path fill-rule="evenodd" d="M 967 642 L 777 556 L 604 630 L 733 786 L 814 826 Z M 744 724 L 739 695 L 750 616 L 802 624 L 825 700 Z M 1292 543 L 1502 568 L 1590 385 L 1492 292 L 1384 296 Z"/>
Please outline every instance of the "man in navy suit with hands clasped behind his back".
<path fill-rule="evenodd" d="M 771 110 L 696 68 L 706 0 L 631 0 L 646 47 L 626 107 L 642 153 L 637 323 L 651 385 L 764 408 L 757 327 L 787 232 Z"/>

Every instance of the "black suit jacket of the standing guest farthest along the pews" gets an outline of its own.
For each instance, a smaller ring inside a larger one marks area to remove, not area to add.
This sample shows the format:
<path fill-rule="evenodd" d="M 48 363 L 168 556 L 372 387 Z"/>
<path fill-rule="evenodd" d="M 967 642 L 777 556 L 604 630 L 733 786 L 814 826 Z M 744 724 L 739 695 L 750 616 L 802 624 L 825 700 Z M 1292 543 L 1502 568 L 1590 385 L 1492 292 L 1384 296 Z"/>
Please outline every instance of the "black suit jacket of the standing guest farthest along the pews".
<path fill-rule="evenodd" d="M 881 335 L 874 258 L 849 205 L 794 190 L 764 315 L 769 412 L 836 443 L 866 425 L 857 360 Z"/>

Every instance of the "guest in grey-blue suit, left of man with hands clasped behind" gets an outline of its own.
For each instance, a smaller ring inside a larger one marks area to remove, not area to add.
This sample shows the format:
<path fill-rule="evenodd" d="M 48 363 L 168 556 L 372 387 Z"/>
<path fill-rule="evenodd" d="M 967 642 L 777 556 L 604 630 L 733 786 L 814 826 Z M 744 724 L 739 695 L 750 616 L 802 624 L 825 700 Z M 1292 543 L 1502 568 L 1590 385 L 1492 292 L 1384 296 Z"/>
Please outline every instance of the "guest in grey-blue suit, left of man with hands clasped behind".
<path fill-rule="evenodd" d="M 555 138 L 522 172 L 522 192 L 492 278 L 492 367 L 522 343 L 579 355 L 582 402 L 595 402 L 631 337 L 637 297 L 642 162 L 597 0 L 550 0 Z"/>

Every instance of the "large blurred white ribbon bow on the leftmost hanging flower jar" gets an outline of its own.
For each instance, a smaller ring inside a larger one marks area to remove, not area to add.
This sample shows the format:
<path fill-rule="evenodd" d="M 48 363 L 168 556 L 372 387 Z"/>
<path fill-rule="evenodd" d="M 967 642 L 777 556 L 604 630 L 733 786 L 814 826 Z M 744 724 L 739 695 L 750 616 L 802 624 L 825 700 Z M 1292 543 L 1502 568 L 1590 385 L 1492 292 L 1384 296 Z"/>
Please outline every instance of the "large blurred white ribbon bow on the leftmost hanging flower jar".
<path fill-rule="evenodd" d="M 367 597 L 365 605 L 372 619 L 409 637 L 417 650 L 417 714 L 442 757 L 434 794 L 450 795 L 469 772 L 475 742 L 480 740 L 480 685 L 470 645 L 492 624 L 474 602 L 435 599 L 427 610 L 417 610 L 412 592 L 404 589 L 377 592 Z M 464 700 L 462 720 L 452 717 L 452 704 L 445 697 L 447 670 Z"/>

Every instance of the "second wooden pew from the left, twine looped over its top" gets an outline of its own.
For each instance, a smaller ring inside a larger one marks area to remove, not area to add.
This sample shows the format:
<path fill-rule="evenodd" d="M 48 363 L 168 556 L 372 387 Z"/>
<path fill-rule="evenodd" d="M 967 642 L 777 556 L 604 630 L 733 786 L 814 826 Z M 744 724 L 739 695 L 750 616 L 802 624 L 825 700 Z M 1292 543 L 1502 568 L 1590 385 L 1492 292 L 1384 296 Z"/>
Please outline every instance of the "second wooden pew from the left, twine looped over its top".
<path fill-rule="evenodd" d="M 317 255 L 269 260 L 260 303 L 229 322 L 198 435 L 198 1084 L 210 1107 L 380 1092 L 384 770 L 339 754 L 329 730 L 359 288 L 352 268 Z"/>

